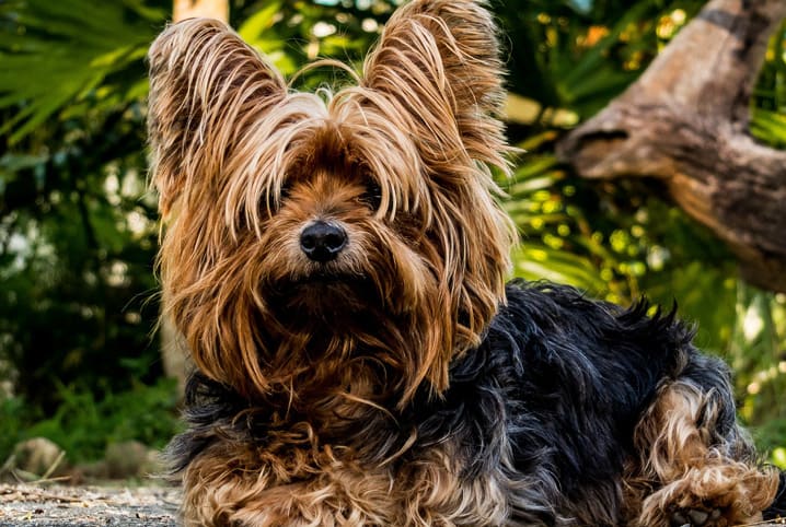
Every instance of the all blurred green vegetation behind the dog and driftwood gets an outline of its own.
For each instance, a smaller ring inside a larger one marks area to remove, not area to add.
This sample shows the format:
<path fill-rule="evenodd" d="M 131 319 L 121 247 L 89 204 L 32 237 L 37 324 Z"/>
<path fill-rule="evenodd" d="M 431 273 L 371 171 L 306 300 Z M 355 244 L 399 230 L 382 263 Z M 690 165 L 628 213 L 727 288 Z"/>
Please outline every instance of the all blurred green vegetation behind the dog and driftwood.
<path fill-rule="evenodd" d="M 285 73 L 317 57 L 358 65 L 396 2 L 233 0 L 231 24 Z M 507 0 L 493 8 L 510 69 L 500 181 L 522 233 L 517 276 L 698 325 L 737 375 L 741 419 L 786 468 L 786 297 L 738 279 L 733 258 L 654 181 L 587 181 L 555 142 L 620 94 L 702 0 Z M 45 436 L 71 462 L 177 429 L 161 366 L 155 197 L 147 187 L 145 55 L 164 0 L 0 3 L 0 464 Z M 786 27 L 751 101 L 752 132 L 786 147 Z M 342 82 L 317 70 L 299 87 Z"/>

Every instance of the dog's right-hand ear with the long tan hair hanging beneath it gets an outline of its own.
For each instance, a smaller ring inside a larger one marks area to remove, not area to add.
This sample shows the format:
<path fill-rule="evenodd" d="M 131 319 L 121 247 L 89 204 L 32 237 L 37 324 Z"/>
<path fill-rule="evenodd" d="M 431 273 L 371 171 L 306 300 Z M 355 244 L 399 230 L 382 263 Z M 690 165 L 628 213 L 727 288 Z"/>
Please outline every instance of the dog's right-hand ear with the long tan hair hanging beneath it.
<path fill-rule="evenodd" d="M 501 79 L 497 28 L 483 0 L 414 0 L 391 16 L 363 65 L 360 104 L 412 138 L 400 147 L 416 149 L 421 162 L 396 177 L 426 177 L 430 188 L 419 208 L 429 226 L 420 251 L 439 292 L 424 304 L 424 349 L 403 401 L 423 379 L 442 391 L 451 358 L 481 342 L 505 301 L 516 235 L 492 197 L 498 189 L 487 166 L 510 169 Z"/>

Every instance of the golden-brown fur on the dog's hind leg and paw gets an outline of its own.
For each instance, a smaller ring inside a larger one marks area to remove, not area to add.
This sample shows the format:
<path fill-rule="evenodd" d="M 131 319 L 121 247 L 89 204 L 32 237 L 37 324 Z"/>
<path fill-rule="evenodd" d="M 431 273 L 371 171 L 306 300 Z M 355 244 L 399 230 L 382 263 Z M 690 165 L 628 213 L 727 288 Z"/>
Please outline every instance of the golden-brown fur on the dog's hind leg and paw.
<path fill-rule="evenodd" d="M 640 459 L 626 480 L 633 525 L 669 525 L 675 508 L 717 511 L 718 526 L 762 519 L 778 490 L 777 470 L 751 458 L 749 438 L 715 436 L 720 411 L 717 394 L 690 382 L 660 388 L 636 430 Z"/>

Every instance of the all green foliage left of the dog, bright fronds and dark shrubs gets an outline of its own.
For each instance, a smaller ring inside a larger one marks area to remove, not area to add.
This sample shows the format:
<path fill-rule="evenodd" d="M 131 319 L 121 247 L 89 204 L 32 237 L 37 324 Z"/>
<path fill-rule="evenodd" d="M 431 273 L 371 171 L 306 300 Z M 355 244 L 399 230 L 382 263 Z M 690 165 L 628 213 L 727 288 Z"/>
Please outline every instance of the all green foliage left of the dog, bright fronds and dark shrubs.
<path fill-rule="evenodd" d="M 51 414 L 65 390 L 161 375 L 138 2 L 0 7 L 0 375 Z M 85 19 L 85 20 L 82 20 Z M 149 305 L 148 305 L 149 304 Z"/>

